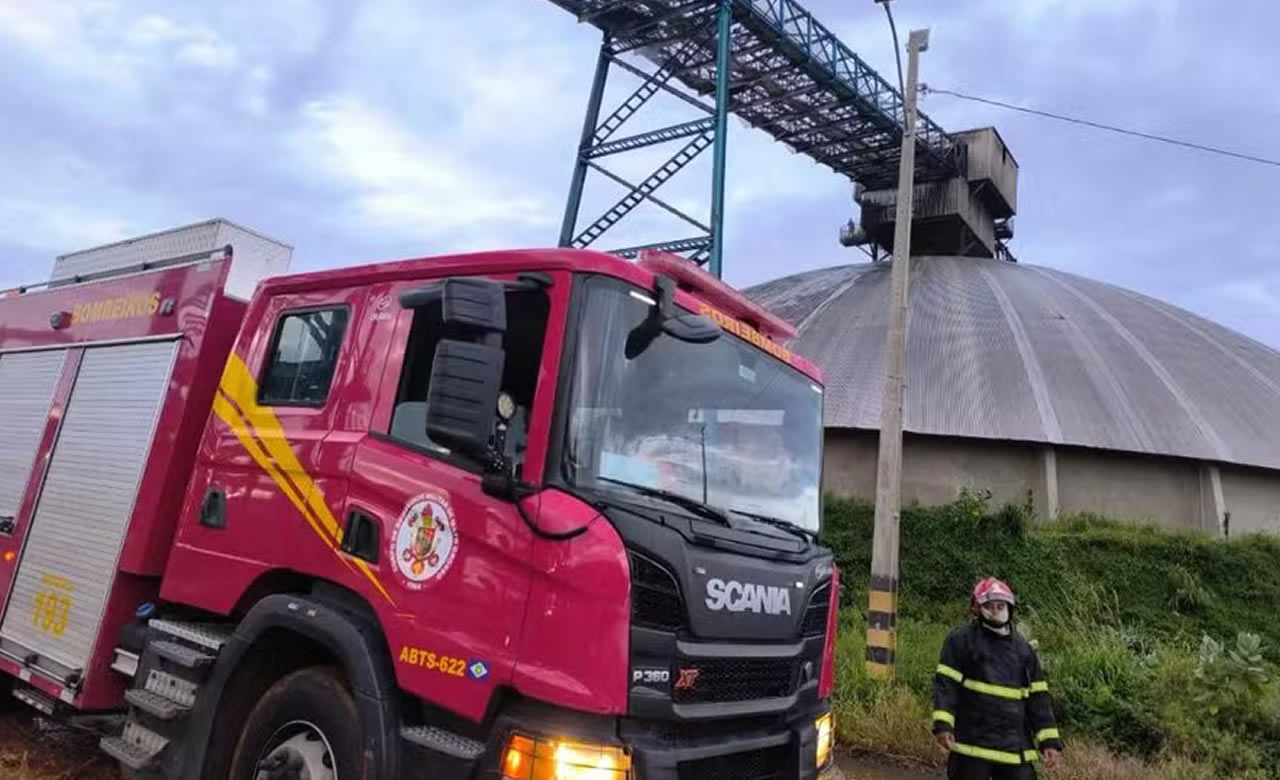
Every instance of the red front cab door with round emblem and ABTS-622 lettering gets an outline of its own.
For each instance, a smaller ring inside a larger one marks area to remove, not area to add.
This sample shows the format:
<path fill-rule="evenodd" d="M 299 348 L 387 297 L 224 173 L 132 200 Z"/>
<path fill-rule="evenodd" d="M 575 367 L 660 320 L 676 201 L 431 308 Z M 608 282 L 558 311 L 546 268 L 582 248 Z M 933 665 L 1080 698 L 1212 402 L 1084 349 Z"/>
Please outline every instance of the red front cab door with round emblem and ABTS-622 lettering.
<path fill-rule="evenodd" d="M 408 286 L 406 286 L 408 287 Z M 562 287 L 567 288 L 567 278 Z M 516 412 L 507 455 L 540 479 L 567 292 L 508 291 L 503 389 Z M 440 302 L 397 313 L 396 337 L 357 447 L 346 506 L 349 549 L 376 564 L 393 608 L 384 629 L 402 687 L 480 719 L 508 683 L 530 587 L 532 535 L 516 508 L 481 489 L 483 469 L 426 435 Z"/>

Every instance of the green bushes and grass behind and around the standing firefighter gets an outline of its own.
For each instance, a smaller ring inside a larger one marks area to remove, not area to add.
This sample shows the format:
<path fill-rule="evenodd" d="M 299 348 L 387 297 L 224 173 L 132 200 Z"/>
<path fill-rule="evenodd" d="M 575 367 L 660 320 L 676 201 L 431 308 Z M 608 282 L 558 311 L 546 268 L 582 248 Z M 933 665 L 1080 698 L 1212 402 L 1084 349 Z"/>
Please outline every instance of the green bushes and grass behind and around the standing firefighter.
<path fill-rule="evenodd" d="M 886 687 L 863 666 L 872 526 L 869 505 L 828 500 L 824 534 L 845 576 L 837 729 L 850 747 L 942 758 L 927 722 L 937 653 L 968 620 L 973 583 L 995 574 L 1018 592 L 1019 630 L 1050 678 L 1071 753 L 1059 776 L 1280 779 L 1280 539 L 1096 516 L 1037 526 L 1028 507 L 968 493 L 906 507 Z"/>

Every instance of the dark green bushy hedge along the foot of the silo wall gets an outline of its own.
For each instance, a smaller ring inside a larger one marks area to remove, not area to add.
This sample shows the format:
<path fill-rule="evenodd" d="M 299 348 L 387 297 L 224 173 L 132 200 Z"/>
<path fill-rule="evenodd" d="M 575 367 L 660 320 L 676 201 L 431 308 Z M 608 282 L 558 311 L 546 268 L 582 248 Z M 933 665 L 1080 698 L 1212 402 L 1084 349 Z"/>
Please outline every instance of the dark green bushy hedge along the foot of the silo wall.
<path fill-rule="evenodd" d="M 844 603 L 855 608 L 865 608 L 874 514 L 863 501 L 827 501 L 823 534 L 847 578 Z M 1024 615 L 1101 599 L 1115 612 L 1107 620 L 1153 639 L 1249 631 L 1262 637 L 1268 660 L 1280 662 L 1277 538 L 1221 540 L 1096 515 L 1034 526 L 1027 507 L 992 511 L 986 494 L 964 492 L 948 505 L 904 507 L 901 539 L 905 616 L 964 620 L 973 583 L 995 574 L 1011 581 Z"/>

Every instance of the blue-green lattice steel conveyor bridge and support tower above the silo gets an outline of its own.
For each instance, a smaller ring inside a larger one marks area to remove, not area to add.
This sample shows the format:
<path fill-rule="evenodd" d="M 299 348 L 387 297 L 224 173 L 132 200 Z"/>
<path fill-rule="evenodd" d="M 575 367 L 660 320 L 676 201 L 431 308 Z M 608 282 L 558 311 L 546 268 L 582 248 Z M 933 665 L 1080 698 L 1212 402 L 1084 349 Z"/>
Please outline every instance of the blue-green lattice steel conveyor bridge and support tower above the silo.
<path fill-rule="evenodd" d="M 552 0 L 579 20 L 600 28 L 604 41 L 588 101 L 586 120 L 570 187 L 562 246 L 585 247 L 645 200 L 696 228 L 698 233 L 653 247 L 684 252 L 721 273 L 724 214 L 726 119 L 732 113 L 794 151 L 869 190 L 893 187 L 902 142 L 902 95 L 794 0 Z M 641 53 L 636 67 L 623 59 Z M 603 120 L 604 86 L 612 67 L 643 81 Z M 676 88 L 677 82 L 685 90 Z M 673 127 L 614 138 L 627 119 L 666 91 L 704 117 Z M 692 92 L 692 95 L 690 95 Z M 701 99 L 699 99 L 701 97 Z M 710 101 L 705 99 L 710 99 Z M 916 181 L 960 174 L 964 146 L 920 115 Z M 655 143 L 689 140 L 639 183 L 609 172 L 599 160 Z M 699 154 L 712 149 L 710 224 L 684 214 L 654 192 Z M 586 228 L 579 229 L 589 170 L 627 193 Z M 617 250 L 631 256 L 640 248 Z"/>

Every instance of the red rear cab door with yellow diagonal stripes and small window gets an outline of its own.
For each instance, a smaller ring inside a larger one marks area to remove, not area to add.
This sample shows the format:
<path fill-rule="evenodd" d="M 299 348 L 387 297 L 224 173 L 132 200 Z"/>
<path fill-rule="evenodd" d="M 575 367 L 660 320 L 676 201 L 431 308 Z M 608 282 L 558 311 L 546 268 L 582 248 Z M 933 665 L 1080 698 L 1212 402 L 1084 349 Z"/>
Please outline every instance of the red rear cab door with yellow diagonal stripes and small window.
<path fill-rule="evenodd" d="M 366 289 L 282 293 L 219 383 L 192 494 L 212 511 L 184 521 L 165 598 L 228 611 L 271 567 L 346 581 L 335 519 L 340 464 L 320 457 L 356 370 Z M 216 564 L 215 564 L 216 561 Z"/>

